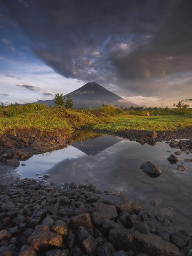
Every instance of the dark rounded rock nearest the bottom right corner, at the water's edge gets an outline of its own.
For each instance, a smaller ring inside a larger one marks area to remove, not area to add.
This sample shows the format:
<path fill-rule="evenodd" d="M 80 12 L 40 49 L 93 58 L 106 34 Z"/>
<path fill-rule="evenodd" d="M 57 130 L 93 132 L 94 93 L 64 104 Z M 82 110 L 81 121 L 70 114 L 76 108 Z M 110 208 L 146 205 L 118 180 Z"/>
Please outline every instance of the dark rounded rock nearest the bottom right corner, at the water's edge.
<path fill-rule="evenodd" d="M 185 231 L 180 230 L 179 233 L 172 233 L 171 234 L 171 241 L 174 245 L 177 247 L 183 248 L 188 246 L 189 244 L 189 234 L 187 234 Z"/>

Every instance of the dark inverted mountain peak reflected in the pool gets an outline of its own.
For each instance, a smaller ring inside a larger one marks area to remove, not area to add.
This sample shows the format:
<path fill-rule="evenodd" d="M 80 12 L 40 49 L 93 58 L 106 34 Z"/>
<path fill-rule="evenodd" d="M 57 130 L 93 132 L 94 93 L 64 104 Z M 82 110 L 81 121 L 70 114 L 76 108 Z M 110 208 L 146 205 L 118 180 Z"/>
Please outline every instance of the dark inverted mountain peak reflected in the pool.
<path fill-rule="evenodd" d="M 109 148 L 118 143 L 119 141 L 120 139 L 118 137 L 103 135 L 96 139 L 87 139 L 86 141 L 74 142 L 72 146 L 78 148 L 86 155 L 96 155 L 106 148 Z"/>

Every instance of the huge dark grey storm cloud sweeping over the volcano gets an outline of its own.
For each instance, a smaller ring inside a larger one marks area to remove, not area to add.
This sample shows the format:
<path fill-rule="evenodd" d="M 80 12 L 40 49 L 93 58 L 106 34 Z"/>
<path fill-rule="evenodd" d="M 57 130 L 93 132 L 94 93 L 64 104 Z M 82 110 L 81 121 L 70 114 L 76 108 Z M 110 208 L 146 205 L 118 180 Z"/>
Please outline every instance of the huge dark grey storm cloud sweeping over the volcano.
<path fill-rule="evenodd" d="M 192 72 L 190 0 L 3 2 L 33 52 L 67 78 L 155 96 L 162 88 L 172 92 L 169 76 L 182 81 Z"/>

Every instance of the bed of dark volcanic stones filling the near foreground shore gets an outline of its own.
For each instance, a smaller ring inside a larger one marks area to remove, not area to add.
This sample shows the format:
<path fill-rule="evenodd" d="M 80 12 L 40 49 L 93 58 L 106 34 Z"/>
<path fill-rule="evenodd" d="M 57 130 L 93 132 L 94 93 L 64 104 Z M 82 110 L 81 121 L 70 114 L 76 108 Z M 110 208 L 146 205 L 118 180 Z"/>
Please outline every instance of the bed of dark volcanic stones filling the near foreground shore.
<path fill-rule="evenodd" d="M 190 236 L 183 230 L 160 231 L 155 217 L 141 207 L 92 184 L 61 188 L 17 178 L 0 188 L 0 256 L 187 254 L 182 248 L 190 248 Z"/>

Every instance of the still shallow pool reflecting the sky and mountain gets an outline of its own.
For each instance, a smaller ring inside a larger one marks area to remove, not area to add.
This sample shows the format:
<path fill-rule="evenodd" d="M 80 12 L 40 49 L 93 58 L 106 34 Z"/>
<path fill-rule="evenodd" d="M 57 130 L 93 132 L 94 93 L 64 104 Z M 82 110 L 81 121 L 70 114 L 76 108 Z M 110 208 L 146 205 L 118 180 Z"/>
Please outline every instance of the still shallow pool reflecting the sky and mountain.
<path fill-rule="evenodd" d="M 21 161 L 26 166 L 20 165 L 18 171 L 22 177 L 36 178 L 48 173 L 51 177 L 47 182 L 58 185 L 93 183 L 102 191 L 125 191 L 129 198 L 141 201 L 145 210 L 155 214 L 172 207 L 173 225 L 192 233 L 192 162 L 184 162 L 192 154 L 183 152 L 177 156 L 178 164 L 186 167 L 179 171 L 176 164 L 167 160 L 175 151 L 165 142 L 150 146 L 121 137 L 97 135 L 61 150 L 34 155 Z M 146 175 L 139 168 L 146 161 L 160 168 L 162 174 L 157 178 Z M 154 198 L 162 200 L 160 206 L 151 204 Z"/>

